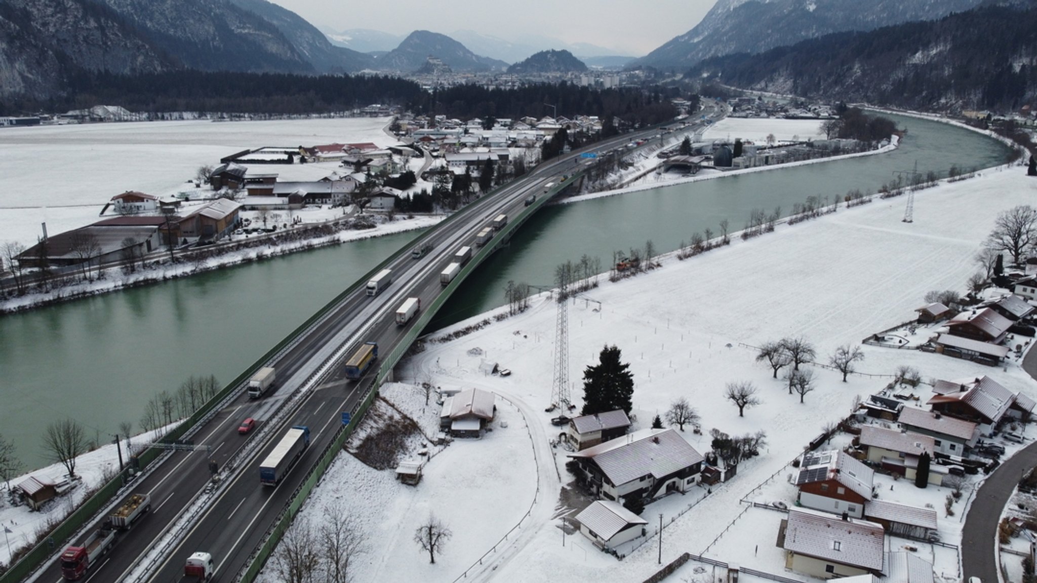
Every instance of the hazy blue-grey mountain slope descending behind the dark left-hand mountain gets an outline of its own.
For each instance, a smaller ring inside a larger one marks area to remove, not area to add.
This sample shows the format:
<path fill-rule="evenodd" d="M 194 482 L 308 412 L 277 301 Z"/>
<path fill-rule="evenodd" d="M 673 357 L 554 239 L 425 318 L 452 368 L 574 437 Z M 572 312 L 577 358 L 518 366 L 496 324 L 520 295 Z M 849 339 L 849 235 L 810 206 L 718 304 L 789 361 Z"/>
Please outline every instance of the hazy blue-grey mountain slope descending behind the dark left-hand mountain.
<path fill-rule="evenodd" d="M 318 73 L 352 73 L 368 68 L 370 55 L 335 47 L 323 32 L 302 17 L 267 0 L 228 0 L 274 25 Z"/>

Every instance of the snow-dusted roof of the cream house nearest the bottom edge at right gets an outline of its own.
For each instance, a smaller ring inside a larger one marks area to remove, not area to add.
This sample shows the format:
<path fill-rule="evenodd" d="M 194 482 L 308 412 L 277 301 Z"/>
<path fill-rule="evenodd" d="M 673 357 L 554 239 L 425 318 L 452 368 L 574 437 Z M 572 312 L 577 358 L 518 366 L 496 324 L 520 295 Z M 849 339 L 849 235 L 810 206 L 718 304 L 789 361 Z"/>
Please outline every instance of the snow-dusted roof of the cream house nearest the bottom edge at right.
<path fill-rule="evenodd" d="M 783 548 L 842 564 L 881 571 L 885 562 L 882 526 L 806 508 L 788 512 Z"/>

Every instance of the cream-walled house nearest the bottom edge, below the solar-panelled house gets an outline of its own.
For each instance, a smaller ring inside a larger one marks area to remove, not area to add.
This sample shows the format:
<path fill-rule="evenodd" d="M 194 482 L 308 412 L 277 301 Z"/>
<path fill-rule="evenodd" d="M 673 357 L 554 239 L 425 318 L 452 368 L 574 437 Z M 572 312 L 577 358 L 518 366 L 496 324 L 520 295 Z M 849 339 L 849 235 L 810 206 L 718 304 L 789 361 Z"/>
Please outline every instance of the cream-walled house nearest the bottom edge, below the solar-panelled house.
<path fill-rule="evenodd" d="M 881 574 L 885 542 L 880 524 L 804 508 L 790 509 L 778 529 L 785 568 L 821 579 Z"/>

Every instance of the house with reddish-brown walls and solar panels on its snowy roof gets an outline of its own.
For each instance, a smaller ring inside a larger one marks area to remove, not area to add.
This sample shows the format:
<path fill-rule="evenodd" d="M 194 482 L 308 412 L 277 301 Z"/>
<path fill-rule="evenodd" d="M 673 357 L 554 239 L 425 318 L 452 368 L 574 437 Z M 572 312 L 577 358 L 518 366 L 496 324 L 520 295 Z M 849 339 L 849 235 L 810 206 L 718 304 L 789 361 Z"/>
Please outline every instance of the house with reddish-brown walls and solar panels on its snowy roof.
<path fill-rule="evenodd" d="M 838 449 L 803 454 L 795 485 L 800 504 L 825 512 L 864 516 L 875 472 Z"/>

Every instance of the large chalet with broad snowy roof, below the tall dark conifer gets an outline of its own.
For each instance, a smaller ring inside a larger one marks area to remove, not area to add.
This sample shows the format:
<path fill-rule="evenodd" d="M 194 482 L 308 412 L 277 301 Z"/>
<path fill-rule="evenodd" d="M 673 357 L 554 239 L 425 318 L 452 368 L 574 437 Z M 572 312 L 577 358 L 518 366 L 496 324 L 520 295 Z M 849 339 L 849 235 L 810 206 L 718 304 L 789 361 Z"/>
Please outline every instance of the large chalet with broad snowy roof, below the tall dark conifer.
<path fill-rule="evenodd" d="M 620 503 L 685 492 L 704 462 L 674 429 L 641 429 L 568 456 L 595 496 Z"/>

